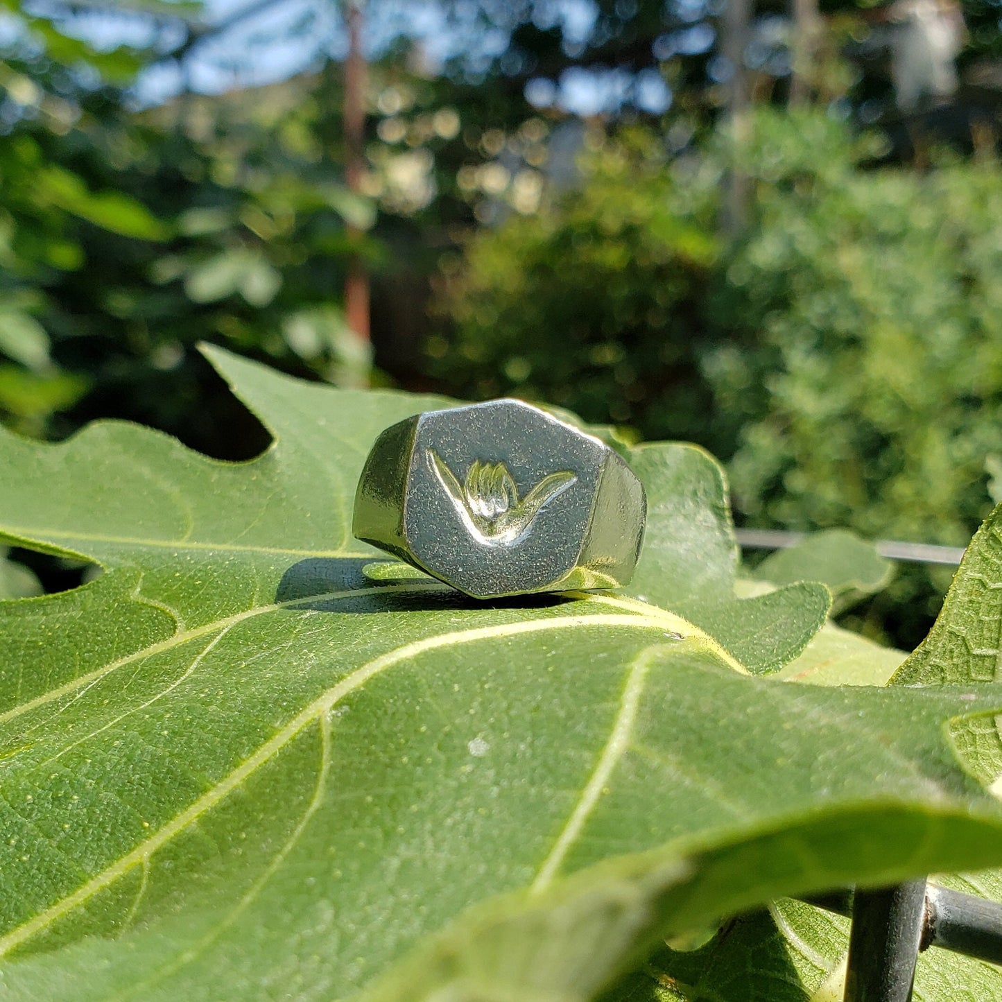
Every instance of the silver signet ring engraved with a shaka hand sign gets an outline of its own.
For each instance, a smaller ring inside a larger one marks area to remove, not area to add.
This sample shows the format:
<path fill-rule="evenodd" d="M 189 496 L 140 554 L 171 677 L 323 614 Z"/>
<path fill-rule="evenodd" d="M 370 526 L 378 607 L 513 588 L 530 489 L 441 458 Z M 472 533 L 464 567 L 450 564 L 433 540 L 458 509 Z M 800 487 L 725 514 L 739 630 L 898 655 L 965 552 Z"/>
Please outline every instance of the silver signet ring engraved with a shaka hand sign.
<path fill-rule="evenodd" d="M 384 431 L 353 531 L 476 598 L 626 584 L 646 499 L 591 435 L 519 400 L 429 411 Z"/>

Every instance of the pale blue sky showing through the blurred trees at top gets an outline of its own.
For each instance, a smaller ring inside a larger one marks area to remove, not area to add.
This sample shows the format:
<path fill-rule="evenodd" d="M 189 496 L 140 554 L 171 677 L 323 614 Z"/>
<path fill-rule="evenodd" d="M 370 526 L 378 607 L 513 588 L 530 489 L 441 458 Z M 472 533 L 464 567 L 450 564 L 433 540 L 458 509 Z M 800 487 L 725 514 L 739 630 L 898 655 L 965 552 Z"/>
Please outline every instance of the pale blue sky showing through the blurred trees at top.
<path fill-rule="evenodd" d="M 39 6 L 45 2 L 38 0 Z M 705 2 L 674 0 L 692 14 L 705 10 Z M 212 94 L 264 86 L 315 68 L 323 58 L 341 59 L 347 38 L 339 8 L 337 0 L 277 0 L 272 4 L 204 0 L 202 23 L 219 25 L 233 19 L 232 25 L 199 41 L 180 63 L 164 59 L 149 66 L 134 88 L 134 99 L 148 105 L 185 88 Z M 238 17 L 245 10 L 253 13 Z M 370 57 L 378 57 L 395 39 L 406 37 L 421 46 L 427 66 L 462 58 L 475 74 L 508 44 L 503 8 L 502 23 L 493 26 L 485 26 L 479 13 L 475 4 L 456 5 L 449 16 L 438 0 L 369 0 L 365 47 Z M 597 16 L 594 0 L 544 0 L 534 10 L 537 26 L 559 27 L 571 47 L 583 45 Z M 129 11 L 127 4 L 108 11 L 77 9 L 63 28 L 106 49 L 125 44 L 167 52 L 185 37 L 181 20 Z M 675 52 L 701 51 L 713 41 L 712 29 L 704 23 L 670 37 Z M 526 96 L 537 107 L 556 106 L 582 116 L 615 113 L 627 103 L 657 114 L 671 103 L 670 89 L 653 68 L 632 74 L 620 68 L 572 67 L 557 81 L 530 81 Z"/>

